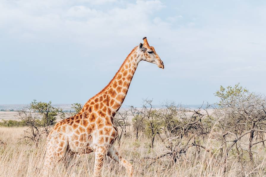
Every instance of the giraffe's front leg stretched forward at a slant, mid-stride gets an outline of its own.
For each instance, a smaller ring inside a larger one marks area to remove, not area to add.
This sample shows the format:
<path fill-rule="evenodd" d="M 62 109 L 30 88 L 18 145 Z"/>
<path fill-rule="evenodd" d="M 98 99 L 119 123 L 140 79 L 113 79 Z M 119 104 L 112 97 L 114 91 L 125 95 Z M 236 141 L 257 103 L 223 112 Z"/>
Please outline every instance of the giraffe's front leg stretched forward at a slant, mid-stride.
<path fill-rule="evenodd" d="M 119 162 L 123 167 L 125 167 L 130 177 L 133 175 L 133 166 L 131 165 L 131 163 L 129 163 L 127 160 L 125 160 L 119 155 L 113 145 L 110 147 L 107 155 L 111 157 L 111 159 L 115 160 L 116 162 Z"/>

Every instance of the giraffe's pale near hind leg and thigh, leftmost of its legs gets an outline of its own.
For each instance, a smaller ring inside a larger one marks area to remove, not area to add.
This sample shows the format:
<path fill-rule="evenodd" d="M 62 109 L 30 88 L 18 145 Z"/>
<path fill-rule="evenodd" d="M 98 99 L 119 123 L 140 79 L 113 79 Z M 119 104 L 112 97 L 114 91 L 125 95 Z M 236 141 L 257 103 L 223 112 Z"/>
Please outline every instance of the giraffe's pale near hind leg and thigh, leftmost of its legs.
<path fill-rule="evenodd" d="M 61 133 L 53 133 L 47 140 L 43 175 L 49 176 L 55 162 L 62 160 L 66 153 L 67 137 Z"/>

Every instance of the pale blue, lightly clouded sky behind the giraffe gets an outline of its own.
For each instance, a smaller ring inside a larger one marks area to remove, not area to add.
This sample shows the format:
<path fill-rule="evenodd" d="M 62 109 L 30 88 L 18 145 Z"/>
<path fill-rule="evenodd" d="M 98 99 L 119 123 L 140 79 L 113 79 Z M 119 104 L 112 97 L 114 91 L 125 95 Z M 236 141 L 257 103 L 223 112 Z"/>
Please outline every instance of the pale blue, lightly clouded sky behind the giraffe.
<path fill-rule="evenodd" d="M 217 102 L 220 85 L 266 93 L 266 1 L 0 0 L 0 104 L 82 103 L 131 50 L 141 61 L 123 106 Z"/>

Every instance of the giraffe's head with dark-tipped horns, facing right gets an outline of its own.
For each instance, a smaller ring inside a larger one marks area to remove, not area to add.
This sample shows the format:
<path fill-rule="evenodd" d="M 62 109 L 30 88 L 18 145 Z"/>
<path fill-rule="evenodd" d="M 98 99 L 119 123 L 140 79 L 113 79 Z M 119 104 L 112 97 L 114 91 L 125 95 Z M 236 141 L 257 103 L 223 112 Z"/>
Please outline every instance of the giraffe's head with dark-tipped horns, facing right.
<path fill-rule="evenodd" d="M 159 55 L 155 52 L 154 47 L 148 44 L 147 38 L 143 38 L 143 44 L 140 43 L 139 48 L 141 52 L 143 52 L 142 60 L 148 61 L 150 63 L 156 64 L 159 68 L 164 68 L 164 63 L 159 57 Z"/>

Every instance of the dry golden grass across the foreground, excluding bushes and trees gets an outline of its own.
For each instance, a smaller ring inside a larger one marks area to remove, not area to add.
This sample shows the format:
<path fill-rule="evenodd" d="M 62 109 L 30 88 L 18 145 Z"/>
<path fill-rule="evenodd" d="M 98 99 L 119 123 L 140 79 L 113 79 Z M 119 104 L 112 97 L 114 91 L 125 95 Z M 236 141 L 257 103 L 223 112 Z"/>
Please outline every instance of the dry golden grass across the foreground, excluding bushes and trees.
<path fill-rule="evenodd" d="M 34 143 L 20 139 L 25 128 L 0 127 L 0 176 L 32 177 L 42 176 L 45 141 L 40 142 L 38 147 Z M 132 133 L 132 137 L 133 133 Z M 199 155 L 195 155 L 195 148 L 190 148 L 186 156 L 182 155 L 175 165 L 169 165 L 165 158 L 157 160 L 151 166 L 153 160 L 144 160 L 145 156 L 156 156 L 164 151 L 160 141 L 155 142 L 154 149 L 150 149 L 147 138 L 140 137 L 135 140 L 125 137 L 121 145 L 115 144 L 116 148 L 126 159 L 132 159 L 134 176 L 265 176 L 266 161 L 265 148 L 255 147 L 254 162 L 247 162 L 242 168 L 234 154 L 230 154 L 227 163 L 217 162 L 210 153 L 201 149 Z M 215 146 L 215 141 L 207 140 L 206 147 Z M 215 152 L 215 149 L 212 149 Z M 248 154 L 245 154 L 248 159 Z M 84 154 L 75 158 L 73 170 L 77 176 L 91 176 L 93 173 L 94 154 Z M 69 176 L 63 163 L 59 162 L 50 176 Z M 102 168 L 102 176 L 126 176 L 126 170 L 119 163 L 105 159 Z"/>

